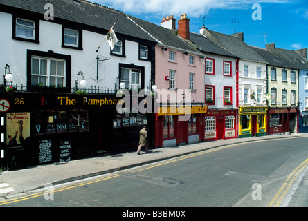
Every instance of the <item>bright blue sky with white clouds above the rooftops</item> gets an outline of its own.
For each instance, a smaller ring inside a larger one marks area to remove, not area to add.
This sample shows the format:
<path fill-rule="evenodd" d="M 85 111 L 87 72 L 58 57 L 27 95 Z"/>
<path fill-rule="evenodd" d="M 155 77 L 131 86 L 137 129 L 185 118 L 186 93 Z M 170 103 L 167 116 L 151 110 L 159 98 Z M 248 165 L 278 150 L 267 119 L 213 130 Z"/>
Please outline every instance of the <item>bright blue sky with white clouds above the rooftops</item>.
<path fill-rule="evenodd" d="M 203 24 L 226 35 L 244 32 L 246 44 L 260 48 L 269 43 L 289 50 L 308 48 L 308 0 L 91 1 L 157 25 L 163 17 L 173 15 L 177 21 L 186 13 L 191 32 L 199 33 Z"/>

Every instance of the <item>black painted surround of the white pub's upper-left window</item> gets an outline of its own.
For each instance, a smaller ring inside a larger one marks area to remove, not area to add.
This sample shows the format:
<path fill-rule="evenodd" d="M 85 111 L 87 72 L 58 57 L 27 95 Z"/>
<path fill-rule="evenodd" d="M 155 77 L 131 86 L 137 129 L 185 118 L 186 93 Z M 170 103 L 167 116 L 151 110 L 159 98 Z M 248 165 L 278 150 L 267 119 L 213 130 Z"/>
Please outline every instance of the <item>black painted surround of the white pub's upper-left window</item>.
<path fill-rule="evenodd" d="M 22 36 L 17 36 L 17 19 L 21 19 L 24 21 L 31 21 L 34 23 L 34 37 L 29 38 L 29 37 L 22 37 Z M 28 42 L 33 42 L 36 44 L 39 44 L 39 19 L 29 19 L 27 17 L 23 16 L 12 16 L 12 39 L 18 40 L 18 41 L 28 41 Z"/>

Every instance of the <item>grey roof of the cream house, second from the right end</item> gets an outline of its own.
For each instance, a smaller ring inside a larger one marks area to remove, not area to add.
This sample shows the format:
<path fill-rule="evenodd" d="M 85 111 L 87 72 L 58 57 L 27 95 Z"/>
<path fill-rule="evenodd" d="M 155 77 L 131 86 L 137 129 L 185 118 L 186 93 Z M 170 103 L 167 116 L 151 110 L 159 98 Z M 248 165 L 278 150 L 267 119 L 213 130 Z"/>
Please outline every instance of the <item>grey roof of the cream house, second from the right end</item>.
<path fill-rule="evenodd" d="M 282 68 L 291 68 L 291 69 L 298 69 L 295 65 L 291 64 L 291 62 L 287 61 L 286 59 L 283 59 L 276 53 L 272 52 L 269 49 L 266 48 L 258 48 L 255 46 L 250 46 L 255 52 L 257 52 L 258 55 L 263 57 L 269 65 L 271 66 L 279 66 Z"/>

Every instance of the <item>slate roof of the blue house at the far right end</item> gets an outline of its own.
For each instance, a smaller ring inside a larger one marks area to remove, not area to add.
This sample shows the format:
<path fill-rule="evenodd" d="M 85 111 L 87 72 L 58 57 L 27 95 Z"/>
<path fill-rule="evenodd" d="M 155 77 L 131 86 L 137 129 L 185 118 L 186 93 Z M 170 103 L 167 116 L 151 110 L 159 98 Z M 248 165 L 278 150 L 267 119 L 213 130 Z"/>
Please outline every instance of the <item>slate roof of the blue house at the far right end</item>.
<path fill-rule="evenodd" d="M 298 69 L 308 70 L 308 61 L 306 61 L 304 57 L 298 54 L 298 52 L 282 48 L 275 48 L 273 52 L 276 52 L 284 59 L 287 59 L 287 61 L 291 62 L 294 66 L 298 67 Z"/>

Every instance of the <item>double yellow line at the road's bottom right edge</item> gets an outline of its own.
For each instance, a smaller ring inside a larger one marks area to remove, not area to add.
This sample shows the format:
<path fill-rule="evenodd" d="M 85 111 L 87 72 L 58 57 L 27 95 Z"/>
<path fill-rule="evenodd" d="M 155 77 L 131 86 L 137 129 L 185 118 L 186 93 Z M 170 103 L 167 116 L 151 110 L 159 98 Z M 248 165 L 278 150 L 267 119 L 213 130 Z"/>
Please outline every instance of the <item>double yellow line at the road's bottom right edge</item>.
<path fill-rule="evenodd" d="M 279 207 L 282 203 L 282 200 L 284 200 L 285 195 L 291 188 L 294 180 L 296 180 L 296 177 L 298 177 L 298 174 L 305 169 L 308 166 L 308 159 L 305 160 L 305 162 L 302 162 L 300 166 L 298 166 L 290 175 L 287 177 L 287 180 L 284 182 L 284 184 L 281 186 L 279 191 L 276 193 L 275 197 L 267 207 Z"/>

